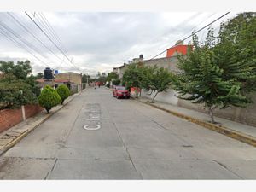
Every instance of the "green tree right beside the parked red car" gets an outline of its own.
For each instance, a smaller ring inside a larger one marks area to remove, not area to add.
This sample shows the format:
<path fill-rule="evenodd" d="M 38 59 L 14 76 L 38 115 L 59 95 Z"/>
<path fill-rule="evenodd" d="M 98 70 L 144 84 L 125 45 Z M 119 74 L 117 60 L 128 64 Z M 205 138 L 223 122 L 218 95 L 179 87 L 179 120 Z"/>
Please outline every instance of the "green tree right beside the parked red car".
<path fill-rule="evenodd" d="M 141 83 L 143 80 L 143 67 L 140 63 L 132 63 L 125 68 L 125 73 L 123 75 L 123 81 L 125 82 L 125 86 L 127 89 L 131 89 L 131 87 L 141 89 Z M 138 92 L 136 89 L 136 97 L 138 97 Z"/>

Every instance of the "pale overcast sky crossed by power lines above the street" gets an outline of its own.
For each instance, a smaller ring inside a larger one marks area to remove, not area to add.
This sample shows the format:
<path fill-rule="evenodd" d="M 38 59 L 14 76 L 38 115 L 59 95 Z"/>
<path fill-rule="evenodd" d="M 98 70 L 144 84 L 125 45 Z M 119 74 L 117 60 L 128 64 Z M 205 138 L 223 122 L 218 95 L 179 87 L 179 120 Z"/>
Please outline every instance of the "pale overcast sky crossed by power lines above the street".
<path fill-rule="evenodd" d="M 63 54 L 25 13 L 0 13 L 0 60 L 24 61 L 28 59 L 32 61 L 33 73 L 42 72 L 44 67 L 52 67 L 59 69 L 60 72 L 79 72 L 80 70 L 82 73 L 89 74 L 95 74 L 98 71 L 110 72 L 113 67 L 119 67 L 140 54 L 143 54 L 145 59 L 150 59 L 162 50 L 171 47 L 178 39 L 191 34 L 193 30 L 224 15 L 224 13 L 209 12 L 45 12 L 44 17 L 61 39 L 60 45 L 46 26 L 43 15 L 39 15 L 38 12 L 28 14 L 38 23 L 38 26 L 41 26 L 49 38 L 67 53 L 67 57 L 72 59 L 74 65 L 66 58 L 61 63 L 64 58 Z M 234 15 L 236 13 L 230 13 L 216 22 L 213 25 L 216 32 L 218 32 L 221 21 Z M 204 30 L 199 33 L 199 38 L 203 39 L 206 35 L 207 30 Z M 27 46 L 21 43 L 21 48 L 14 42 L 20 42 L 19 38 Z M 189 40 L 185 42 L 187 43 Z M 165 56 L 166 53 L 160 55 L 160 57 Z"/>

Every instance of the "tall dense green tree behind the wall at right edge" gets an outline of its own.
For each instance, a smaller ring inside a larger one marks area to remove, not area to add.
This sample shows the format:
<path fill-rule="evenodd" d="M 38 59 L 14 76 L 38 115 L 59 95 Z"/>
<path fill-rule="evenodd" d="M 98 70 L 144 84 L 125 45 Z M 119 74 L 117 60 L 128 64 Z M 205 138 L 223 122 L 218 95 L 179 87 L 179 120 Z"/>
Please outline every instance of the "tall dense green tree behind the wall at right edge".
<path fill-rule="evenodd" d="M 244 96 L 256 90 L 256 13 L 241 13 L 222 23 L 213 51 L 224 79 L 240 82 Z"/>

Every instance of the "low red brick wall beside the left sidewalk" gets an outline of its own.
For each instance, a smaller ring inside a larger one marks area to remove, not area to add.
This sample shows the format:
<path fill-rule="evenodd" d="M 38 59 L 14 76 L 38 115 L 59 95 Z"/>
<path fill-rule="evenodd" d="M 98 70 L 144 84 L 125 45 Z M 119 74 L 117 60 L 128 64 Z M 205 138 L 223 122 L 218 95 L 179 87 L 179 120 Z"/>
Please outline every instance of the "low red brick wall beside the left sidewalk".
<path fill-rule="evenodd" d="M 26 118 L 32 117 L 42 110 L 43 108 L 39 107 L 38 105 L 26 105 Z M 8 130 L 10 127 L 17 125 L 22 120 L 21 108 L 0 110 L 0 132 Z"/>

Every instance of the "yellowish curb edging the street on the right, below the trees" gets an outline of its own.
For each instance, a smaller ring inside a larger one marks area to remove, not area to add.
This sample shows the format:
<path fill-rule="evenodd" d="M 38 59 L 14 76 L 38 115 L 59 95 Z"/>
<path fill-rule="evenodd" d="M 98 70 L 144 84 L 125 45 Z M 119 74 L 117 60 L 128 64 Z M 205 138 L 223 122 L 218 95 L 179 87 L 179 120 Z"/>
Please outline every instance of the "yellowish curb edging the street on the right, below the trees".
<path fill-rule="evenodd" d="M 135 98 L 134 98 L 135 99 Z M 137 100 L 138 102 L 142 102 L 138 99 L 135 99 Z M 209 122 L 206 122 L 206 121 L 203 121 L 201 119 L 195 119 L 195 118 L 192 118 L 188 115 L 185 115 L 183 113 L 177 113 L 175 111 L 171 111 L 171 110 L 168 110 L 166 108 L 161 108 L 159 106 L 156 106 L 152 103 L 148 103 L 148 102 L 142 102 L 144 104 L 147 104 L 151 107 L 154 107 L 154 108 L 158 108 L 162 111 L 165 111 L 167 113 L 171 113 L 172 115 L 175 115 L 179 118 L 182 118 L 182 119 L 186 119 L 186 120 L 189 120 L 190 122 L 192 123 L 195 123 L 197 125 L 201 125 L 209 130 L 212 130 L 212 131 L 217 131 L 218 133 L 221 133 L 225 136 L 228 136 L 228 137 L 231 137 L 231 138 L 234 138 L 238 141 L 241 141 L 242 143 L 247 143 L 249 145 L 252 145 L 253 147 L 256 147 L 256 138 L 255 137 L 252 137 L 252 136 L 249 136 L 247 134 L 244 134 L 240 131 L 234 131 L 234 130 L 231 130 L 230 128 L 228 127 L 225 127 L 225 126 L 222 126 L 222 125 L 214 125 L 212 123 L 209 123 Z"/>

